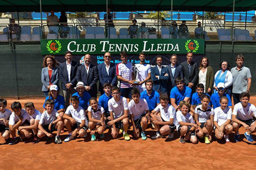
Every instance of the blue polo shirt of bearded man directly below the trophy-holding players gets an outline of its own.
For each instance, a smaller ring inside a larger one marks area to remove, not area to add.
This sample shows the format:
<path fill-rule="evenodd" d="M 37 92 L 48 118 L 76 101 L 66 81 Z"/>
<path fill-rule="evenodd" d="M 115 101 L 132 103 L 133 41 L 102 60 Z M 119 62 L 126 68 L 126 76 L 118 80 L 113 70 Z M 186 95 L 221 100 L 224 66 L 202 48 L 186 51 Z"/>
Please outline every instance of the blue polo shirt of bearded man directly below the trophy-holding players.
<path fill-rule="evenodd" d="M 160 104 L 159 97 L 160 97 L 159 93 L 155 90 L 152 90 L 152 93 L 150 96 L 147 94 L 147 90 L 142 91 L 140 93 L 140 98 L 146 99 L 147 105 L 149 106 L 149 111 L 154 110 L 157 104 Z"/>

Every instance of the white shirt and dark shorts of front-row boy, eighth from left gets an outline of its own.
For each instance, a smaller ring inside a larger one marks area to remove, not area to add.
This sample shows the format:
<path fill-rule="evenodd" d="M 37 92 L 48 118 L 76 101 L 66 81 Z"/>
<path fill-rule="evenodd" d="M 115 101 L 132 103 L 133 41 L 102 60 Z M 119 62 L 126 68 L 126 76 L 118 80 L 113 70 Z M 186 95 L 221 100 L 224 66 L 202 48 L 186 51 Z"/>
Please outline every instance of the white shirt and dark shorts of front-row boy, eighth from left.
<path fill-rule="evenodd" d="M 149 110 L 147 101 L 144 98 L 139 99 L 139 103 L 135 103 L 134 100 L 131 100 L 128 104 L 129 114 L 133 114 L 134 123 L 136 128 L 141 127 L 141 119 L 145 117 L 146 110 Z"/>

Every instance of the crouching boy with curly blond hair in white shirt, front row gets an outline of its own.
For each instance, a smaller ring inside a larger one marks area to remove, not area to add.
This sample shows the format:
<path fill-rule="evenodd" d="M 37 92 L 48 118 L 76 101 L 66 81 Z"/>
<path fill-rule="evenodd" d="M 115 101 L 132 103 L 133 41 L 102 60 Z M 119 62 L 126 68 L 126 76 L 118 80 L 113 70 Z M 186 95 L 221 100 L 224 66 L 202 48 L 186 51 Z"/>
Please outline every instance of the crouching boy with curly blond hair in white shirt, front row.
<path fill-rule="evenodd" d="M 191 105 L 187 101 L 180 101 L 179 111 L 176 113 L 176 128 L 180 134 L 180 143 L 185 144 L 186 141 L 191 141 L 193 144 L 197 143 L 195 130 L 198 125 L 195 124 L 193 117 L 188 113 Z"/>

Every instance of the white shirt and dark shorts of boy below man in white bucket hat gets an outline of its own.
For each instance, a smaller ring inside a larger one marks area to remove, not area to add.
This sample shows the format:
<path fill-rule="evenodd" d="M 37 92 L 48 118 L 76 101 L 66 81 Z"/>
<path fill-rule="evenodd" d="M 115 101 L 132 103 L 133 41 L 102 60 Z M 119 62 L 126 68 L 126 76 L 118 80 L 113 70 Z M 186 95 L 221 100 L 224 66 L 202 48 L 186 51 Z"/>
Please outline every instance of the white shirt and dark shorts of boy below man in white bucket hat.
<path fill-rule="evenodd" d="M 67 107 L 65 114 L 71 115 L 73 119 L 76 120 L 76 124 L 73 125 L 72 130 L 75 130 L 82 123 L 82 120 L 85 120 L 85 125 L 82 129 L 87 130 L 88 121 L 84 109 L 81 106 L 78 106 L 77 109 L 75 109 L 74 106 L 70 105 Z"/>

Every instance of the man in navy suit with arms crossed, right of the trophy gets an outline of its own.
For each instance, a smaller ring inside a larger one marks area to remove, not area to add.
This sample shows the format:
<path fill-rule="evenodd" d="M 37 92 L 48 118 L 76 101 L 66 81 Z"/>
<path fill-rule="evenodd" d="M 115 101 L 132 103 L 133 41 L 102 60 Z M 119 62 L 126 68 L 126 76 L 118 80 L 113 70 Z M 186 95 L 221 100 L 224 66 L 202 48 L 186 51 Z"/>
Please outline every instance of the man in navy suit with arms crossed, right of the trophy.
<path fill-rule="evenodd" d="M 151 79 L 154 82 L 153 90 L 157 91 L 160 95 L 167 94 L 167 81 L 169 79 L 168 69 L 162 66 L 162 62 L 162 56 L 157 56 L 157 65 L 151 69 Z"/>

